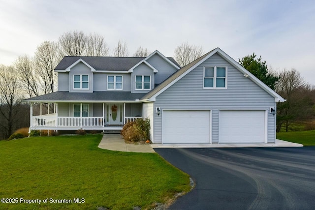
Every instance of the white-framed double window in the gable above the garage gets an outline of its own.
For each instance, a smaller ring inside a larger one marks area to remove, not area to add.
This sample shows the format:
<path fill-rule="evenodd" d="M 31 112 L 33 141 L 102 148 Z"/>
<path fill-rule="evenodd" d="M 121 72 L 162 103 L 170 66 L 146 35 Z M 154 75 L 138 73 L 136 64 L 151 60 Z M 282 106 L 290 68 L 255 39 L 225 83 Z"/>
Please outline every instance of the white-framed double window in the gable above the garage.
<path fill-rule="evenodd" d="M 204 66 L 203 89 L 227 89 L 227 67 Z"/>

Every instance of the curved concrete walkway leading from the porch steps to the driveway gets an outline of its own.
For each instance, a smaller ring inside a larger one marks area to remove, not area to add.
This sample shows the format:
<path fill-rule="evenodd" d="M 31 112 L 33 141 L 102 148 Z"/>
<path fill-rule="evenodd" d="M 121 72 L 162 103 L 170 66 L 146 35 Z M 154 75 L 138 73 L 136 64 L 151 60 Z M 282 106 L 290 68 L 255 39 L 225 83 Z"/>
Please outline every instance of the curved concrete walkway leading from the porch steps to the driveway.
<path fill-rule="evenodd" d="M 104 134 L 98 147 L 115 151 L 155 152 L 150 145 L 126 144 L 120 134 Z"/>

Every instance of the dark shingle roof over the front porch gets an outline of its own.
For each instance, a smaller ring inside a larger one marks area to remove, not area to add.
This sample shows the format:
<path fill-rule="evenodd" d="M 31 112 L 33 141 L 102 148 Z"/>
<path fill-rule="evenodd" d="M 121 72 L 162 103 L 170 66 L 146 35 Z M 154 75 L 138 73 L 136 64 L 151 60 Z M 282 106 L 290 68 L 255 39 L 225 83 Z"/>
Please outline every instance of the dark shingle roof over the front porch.
<path fill-rule="evenodd" d="M 131 93 L 128 91 L 95 91 L 95 92 L 69 92 L 57 91 L 45 95 L 25 99 L 27 102 L 72 102 L 72 101 L 129 101 L 135 102 L 145 93 Z"/>

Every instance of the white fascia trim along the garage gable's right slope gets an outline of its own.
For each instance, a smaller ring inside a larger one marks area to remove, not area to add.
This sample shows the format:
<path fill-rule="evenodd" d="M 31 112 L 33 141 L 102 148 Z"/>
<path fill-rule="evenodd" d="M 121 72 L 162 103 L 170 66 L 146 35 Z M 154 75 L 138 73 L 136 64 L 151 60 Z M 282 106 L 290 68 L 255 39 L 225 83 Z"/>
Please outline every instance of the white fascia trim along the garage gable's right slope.
<path fill-rule="evenodd" d="M 238 62 L 236 62 L 234 59 L 232 59 L 229 55 L 227 55 L 226 53 L 224 53 L 220 48 L 217 48 L 215 50 L 216 52 L 218 52 L 221 56 L 223 56 L 226 60 L 228 60 L 235 68 L 237 68 L 239 71 L 241 71 L 242 73 L 246 73 L 249 75 L 249 78 L 256 83 L 260 88 L 262 88 L 263 90 L 265 90 L 266 92 L 268 92 L 270 95 L 272 95 L 275 100 L 277 99 L 276 102 L 284 102 L 285 99 L 283 97 L 281 97 L 277 92 L 275 92 L 274 90 L 272 90 L 271 88 L 269 88 L 266 84 L 264 84 L 263 82 L 261 82 L 257 77 L 255 77 L 251 72 L 249 72 L 247 69 L 245 69 L 241 64 L 239 64 Z"/>

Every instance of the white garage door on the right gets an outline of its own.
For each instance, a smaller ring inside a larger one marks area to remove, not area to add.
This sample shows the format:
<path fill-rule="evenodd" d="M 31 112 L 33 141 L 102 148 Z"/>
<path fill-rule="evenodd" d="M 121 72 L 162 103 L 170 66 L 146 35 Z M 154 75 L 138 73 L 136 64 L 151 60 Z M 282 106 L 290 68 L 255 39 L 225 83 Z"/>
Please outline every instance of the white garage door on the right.
<path fill-rule="evenodd" d="M 219 143 L 264 143 L 265 111 L 220 111 Z"/>

